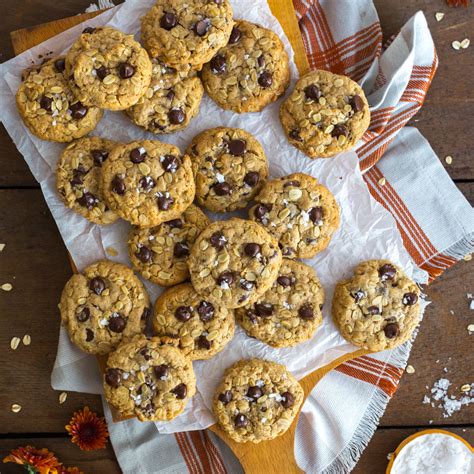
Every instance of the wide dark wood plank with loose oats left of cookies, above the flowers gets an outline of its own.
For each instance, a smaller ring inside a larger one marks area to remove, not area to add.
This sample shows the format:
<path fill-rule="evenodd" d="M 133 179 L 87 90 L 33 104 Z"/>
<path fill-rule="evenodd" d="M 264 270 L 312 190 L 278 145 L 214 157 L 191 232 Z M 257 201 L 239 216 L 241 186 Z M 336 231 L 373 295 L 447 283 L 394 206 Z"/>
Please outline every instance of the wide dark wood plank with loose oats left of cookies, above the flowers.
<path fill-rule="evenodd" d="M 58 299 L 71 275 L 66 250 L 40 190 L 0 190 L 0 433 L 62 432 L 75 409 L 102 411 L 98 396 L 69 393 L 59 405 L 50 385 L 59 334 Z M 14 336 L 31 345 L 10 349 Z M 12 413 L 12 403 L 20 413 Z"/>

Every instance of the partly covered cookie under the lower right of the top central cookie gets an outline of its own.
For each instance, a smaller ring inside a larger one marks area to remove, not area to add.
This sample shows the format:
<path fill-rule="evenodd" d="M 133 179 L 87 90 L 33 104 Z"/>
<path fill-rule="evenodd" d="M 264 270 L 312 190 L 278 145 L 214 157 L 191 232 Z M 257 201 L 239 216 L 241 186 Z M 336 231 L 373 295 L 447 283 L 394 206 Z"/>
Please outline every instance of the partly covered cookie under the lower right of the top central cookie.
<path fill-rule="evenodd" d="M 278 278 L 255 303 L 235 310 L 251 337 L 273 347 L 288 347 L 311 339 L 321 325 L 324 290 L 314 270 L 283 259 Z"/>

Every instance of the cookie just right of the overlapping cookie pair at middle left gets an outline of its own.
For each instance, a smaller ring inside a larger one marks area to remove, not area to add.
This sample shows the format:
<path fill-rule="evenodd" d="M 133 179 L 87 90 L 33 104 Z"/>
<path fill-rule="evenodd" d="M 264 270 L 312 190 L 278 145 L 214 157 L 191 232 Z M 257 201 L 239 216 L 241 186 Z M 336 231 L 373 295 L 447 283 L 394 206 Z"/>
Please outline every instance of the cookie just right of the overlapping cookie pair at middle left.
<path fill-rule="evenodd" d="M 213 212 L 241 209 L 260 191 L 268 163 L 260 143 L 241 128 L 205 130 L 189 145 L 198 203 Z"/>

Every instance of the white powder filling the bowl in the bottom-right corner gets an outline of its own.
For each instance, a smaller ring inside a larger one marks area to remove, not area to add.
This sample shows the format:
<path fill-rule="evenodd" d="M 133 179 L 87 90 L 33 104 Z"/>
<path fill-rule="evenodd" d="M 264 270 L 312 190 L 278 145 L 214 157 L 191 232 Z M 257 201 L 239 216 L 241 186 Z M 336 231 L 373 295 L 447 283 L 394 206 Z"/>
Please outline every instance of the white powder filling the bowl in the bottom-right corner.
<path fill-rule="evenodd" d="M 418 436 L 398 453 L 391 474 L 474 474 L 473 453 L 453 436 Z"/>

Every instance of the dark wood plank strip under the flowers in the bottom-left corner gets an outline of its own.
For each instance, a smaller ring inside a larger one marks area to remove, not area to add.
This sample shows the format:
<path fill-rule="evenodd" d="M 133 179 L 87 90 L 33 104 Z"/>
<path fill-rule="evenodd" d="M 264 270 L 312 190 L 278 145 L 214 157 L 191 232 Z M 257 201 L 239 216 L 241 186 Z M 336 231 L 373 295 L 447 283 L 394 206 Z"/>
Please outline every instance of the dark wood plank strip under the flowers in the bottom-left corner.
<path fill-rule="evenodd" d="M 36 448 L 47 448 L 53 451 L 65 466 L 77 466 L 87 474 L 120 474 L 122 471 L 115 459 L 114 450 L 109 443 L 105 449 L 81 451 L 68 438 L 17 438 L 0 440 L 0 459 L 12 449 L 31 445 Z M 24 468 L 16 464 L 2 464 L 2 474 L 24 473 Z"/>

